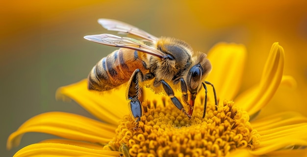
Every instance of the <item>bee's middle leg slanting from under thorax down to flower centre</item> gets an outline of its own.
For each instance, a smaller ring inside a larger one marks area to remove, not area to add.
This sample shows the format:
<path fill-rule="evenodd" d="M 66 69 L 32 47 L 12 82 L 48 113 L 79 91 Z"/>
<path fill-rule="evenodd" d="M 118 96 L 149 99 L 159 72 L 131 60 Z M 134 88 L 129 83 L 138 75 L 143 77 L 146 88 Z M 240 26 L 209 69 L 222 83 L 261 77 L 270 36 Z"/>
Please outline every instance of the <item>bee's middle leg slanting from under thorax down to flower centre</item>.
<path fill-rule="evenodd" d="M 167 84 L 164 80 L 160 80 L 159 82 L 154 82 L 153 86 L 157 86 L 159 84 L 162 84 L 163 89 L 165 90 L 166 94 L 172 99 L 173 104 L 181 110 L 186 116 L 191 118 L 191 116 L 184 110 L 182 104 L 178 100 L 178 98 L 174 95 L 174 91 L 172 90 L 171 86 Z"/>

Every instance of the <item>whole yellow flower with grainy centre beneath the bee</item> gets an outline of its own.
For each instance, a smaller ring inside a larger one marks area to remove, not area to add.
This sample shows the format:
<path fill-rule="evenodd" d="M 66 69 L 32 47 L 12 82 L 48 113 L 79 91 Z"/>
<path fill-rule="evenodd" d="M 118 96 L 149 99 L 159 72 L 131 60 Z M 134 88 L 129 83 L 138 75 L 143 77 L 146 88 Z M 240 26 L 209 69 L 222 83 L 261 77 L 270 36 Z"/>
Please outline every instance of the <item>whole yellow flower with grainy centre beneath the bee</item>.
<path fill-rule="evenodd" d="M 7 148 L 18 145 L 24 133 L 41 132 L 65 139 L 26 146 L 14 157 L 306 155 L 306 117 L 296 112 L 281 112 L 255 118 L 280 84 L 295 84 L 291 76 L 283 76 L 283 48 L 273 44 L 259 84 L 237 96 L 245 56 L 243 45 L 222 43 L 210 50 L 208 58 L 213 71 L 207 80 L 215 84 L 219 105 L 216 110 L 212 92 L 208 92 L 205 118 L 202 118 L 204 91 L 199 92 L 192 118 L 188 119 L 168 97 L 144 88 L 144 112 L 139 129 L 135 129 L 135 119 L 128 114 L 125 86 L 98 93 L 87 90 L 83 80 L 60 88 L 57 97 L 75 100 L 101 121 L 73 113 L 43 113 L 11 134 Z"/>

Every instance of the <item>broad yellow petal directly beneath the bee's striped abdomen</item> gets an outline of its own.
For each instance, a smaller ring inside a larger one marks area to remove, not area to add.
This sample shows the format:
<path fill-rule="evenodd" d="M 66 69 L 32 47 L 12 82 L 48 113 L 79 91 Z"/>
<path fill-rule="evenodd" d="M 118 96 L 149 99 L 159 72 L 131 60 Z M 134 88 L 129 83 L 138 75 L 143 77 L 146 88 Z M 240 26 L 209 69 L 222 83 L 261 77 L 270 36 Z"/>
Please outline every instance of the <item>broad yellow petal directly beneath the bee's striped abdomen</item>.
<path fill-rule="evenodd" d="M 129 114 L 125 93 L 125 87 L 104 92 L 90 91 L 87 81 L 82 80 L 59 88 L 56 98 L 67 100 L 69 97 L 102 121 L 117 125 L 123 115 Z"/>

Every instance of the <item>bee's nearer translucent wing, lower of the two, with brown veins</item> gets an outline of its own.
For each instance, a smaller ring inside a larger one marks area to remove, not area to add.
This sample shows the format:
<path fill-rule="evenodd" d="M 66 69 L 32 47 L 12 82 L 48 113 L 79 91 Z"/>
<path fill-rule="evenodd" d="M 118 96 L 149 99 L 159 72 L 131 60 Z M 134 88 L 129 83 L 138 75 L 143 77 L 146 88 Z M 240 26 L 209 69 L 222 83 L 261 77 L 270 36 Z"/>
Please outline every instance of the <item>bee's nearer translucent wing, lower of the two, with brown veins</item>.
<path fill-rule="evenodd" d="M 89 41 L 96 42 L 96 43 L 103 44 L 103 45 L 134 49 L 137 51 L 151 54 L 153 56 L 157 56 L 159 58 L 163 58 L 166 55 L 163 52 L 155 49 L 154 47 L 145 45 L 142 42 L 132 39 L 132 38 L 120 37 L 120 36 L 116 36 L 112 34 L 87 35 L 87 36 L 84 36 L 84 38 Z"/>

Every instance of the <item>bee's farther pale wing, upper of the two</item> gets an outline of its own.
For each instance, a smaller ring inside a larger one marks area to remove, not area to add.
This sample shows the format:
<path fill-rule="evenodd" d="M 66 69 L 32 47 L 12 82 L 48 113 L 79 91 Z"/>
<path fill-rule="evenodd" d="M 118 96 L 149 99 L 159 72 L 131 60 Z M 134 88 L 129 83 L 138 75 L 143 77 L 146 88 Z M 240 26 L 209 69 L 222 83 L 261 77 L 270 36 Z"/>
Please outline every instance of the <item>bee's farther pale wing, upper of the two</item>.
<path fill-rule="evenodd" d="M 148 41 L 155 41 L 157 37 L 147 33 L 146 31 L 139 29 L 133 25 L 130 25 L 125 22 L 120 22 L 117 20 L 111 20 L 111 19 L 99 19 L 98 23 L 102 25 L 103 28 L 107 30 L 113 30 L 113 31 L 118 31 L 118 32 L 124 32 L 124 33 L 129 33 L 133 34 L 135 36 L 144 38 Z"/>

